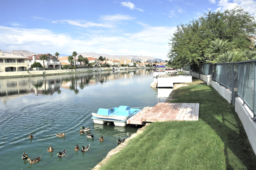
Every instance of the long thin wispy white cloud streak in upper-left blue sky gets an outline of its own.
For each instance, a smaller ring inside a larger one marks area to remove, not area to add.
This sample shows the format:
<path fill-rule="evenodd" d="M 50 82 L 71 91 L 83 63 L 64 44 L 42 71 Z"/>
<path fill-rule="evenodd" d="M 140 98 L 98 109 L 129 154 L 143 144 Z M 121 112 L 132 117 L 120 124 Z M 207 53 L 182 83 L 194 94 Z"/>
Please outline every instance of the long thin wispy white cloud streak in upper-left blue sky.
<path fill-rule="evenodd" d="M 115 26 L 111 25 L 110 23 L 93 23 L 93 22 L 87 22 L 83 20 L 56 20 L 52 21 L 52 23 L 68 23 L 73 26 L 80 26 L 84 28 L 88 27 L 104 27 L 104 28 L 113 28 Z"/>

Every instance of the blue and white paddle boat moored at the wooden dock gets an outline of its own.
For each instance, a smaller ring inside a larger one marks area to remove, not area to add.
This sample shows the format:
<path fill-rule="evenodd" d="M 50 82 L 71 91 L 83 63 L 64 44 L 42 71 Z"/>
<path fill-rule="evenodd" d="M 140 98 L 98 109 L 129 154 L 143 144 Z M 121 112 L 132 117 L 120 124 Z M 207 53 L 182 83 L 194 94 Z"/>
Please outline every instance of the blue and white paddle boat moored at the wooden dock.
<path fill-rule="evenodd" d="M 140 112 L 140 109 L 130 108 L 128 106 L 119 106 L 112 109 L 100 108 L 97 113 L 92 113 L 95 124 L 105 124 L 113 122 L 115 126 L 126 126 L 128 119 Z"/>

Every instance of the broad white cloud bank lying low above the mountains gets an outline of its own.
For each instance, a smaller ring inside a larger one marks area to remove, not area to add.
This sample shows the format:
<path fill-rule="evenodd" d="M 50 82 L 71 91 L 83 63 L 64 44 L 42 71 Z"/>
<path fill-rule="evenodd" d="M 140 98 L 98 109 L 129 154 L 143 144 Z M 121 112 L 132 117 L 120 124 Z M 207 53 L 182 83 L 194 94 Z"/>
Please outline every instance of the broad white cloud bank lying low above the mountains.
<path fill-rule="evenodd" d="M 57 34 L 47 29 L 18 29 L 0 26 L 1 49 L 22 49 L 36 53 L 51 53 L 56 50 L 63 54 L 70 52 L 96 52 L 108 55 L 147 55 L 166 59 L 169 49 L 169 35 L 175 27 L 143 25 L 140 32 L 109 36 L 101 31 L 86 37 L 72 38 L 67 34 Z M 85 32 L 84 32 L 85 33 Z M 79 34 L 79 32 L 77 32 Z M 81 32 L 81 35 L 83 32 Z"/>

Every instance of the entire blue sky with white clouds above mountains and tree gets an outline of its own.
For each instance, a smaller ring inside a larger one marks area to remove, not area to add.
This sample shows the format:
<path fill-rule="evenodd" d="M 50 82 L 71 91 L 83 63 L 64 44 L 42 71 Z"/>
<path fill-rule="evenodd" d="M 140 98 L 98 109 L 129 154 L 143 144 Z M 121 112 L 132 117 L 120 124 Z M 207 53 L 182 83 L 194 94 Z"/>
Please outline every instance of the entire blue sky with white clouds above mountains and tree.
<path fill-rule="evenodd" d="M 0 49 L 169 60 L 180 23 L 236 5 L 256 13 L 256 0 L 1 0 Z"/>

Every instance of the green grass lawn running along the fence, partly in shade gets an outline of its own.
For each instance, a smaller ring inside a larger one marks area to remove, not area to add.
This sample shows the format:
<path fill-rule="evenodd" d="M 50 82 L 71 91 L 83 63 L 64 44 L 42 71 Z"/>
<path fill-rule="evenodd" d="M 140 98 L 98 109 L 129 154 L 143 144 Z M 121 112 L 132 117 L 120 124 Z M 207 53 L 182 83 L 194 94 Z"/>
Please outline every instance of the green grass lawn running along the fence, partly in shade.
<path fill-rule="evenodd" d="M 155 122 L 100 170 L 256 170 L 256 156 L 232 105 L 198 79 L 172 102 L 199 103 L 198 121 Z"/>

